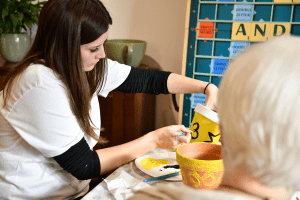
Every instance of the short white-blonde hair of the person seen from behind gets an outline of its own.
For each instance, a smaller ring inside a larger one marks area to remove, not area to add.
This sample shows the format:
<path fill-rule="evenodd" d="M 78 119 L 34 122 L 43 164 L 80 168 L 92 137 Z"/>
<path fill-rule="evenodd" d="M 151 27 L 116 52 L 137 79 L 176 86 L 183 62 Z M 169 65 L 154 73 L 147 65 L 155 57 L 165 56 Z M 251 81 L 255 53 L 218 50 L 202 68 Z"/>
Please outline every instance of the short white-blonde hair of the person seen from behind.
<path fill-rule="evenodd" d="M 280 36 L 234 59 L 220 84 L 218 114 L 233 167 L 269 186 L 299 183 L 300 38 Z"/>

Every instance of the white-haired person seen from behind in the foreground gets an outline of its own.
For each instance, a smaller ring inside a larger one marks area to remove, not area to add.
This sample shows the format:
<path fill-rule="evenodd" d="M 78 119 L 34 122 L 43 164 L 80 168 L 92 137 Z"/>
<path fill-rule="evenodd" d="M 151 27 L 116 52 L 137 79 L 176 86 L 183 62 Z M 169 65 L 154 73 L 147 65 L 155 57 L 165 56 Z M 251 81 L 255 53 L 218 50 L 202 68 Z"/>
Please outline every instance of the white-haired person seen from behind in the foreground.
<path fill-rule="evenodd" d="M 131 200 L 290 199 L 300 182 L 299 96 L 300 39 L 282 36 L 251 46 L 220 85 L 225 172 L 219 188 L 164 184 L 136 191 Z"/>

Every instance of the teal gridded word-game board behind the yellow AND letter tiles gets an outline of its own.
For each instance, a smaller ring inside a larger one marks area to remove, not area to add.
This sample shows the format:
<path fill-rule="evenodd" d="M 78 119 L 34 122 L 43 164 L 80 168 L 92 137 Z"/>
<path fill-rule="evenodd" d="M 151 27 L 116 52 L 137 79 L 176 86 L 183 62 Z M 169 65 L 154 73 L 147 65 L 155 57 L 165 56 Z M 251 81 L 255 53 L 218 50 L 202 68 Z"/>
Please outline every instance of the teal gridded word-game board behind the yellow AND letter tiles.
<path fill-rule="evenodd" d="M 246 48 L 257 42 L 232 40 L 234 22 L 290 23 L 290 34 L 300 36 L 300 4 L 273 1 L 190 0 L 185 76 L 219 86 L 231 58 L 240 48 Z M 250 9 L 248 12 L 250 16 L 237 14 L 238 8 Z M 198 36 L 200 22 L 214 23 L 213 38 Z M 184 126 L 190 127 L 196 103 L 204 104 L 204 102 L 204 94 L 183 95 L 181 120 Z"/>

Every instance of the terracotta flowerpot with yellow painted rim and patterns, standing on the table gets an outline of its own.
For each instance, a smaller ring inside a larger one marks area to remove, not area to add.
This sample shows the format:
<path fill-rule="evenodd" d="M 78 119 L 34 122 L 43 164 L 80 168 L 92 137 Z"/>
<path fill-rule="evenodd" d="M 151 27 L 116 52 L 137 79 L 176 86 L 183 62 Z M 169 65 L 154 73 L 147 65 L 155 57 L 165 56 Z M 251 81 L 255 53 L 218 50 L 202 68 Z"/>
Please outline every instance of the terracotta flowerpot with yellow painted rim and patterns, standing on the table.
<path fill-rule="evenodd" d="M 196 189 L 215 189 L 221 184 L 224 173 L 221 145 L 185 144 L 177 148 L 176 160 L 185 185 Z"/>

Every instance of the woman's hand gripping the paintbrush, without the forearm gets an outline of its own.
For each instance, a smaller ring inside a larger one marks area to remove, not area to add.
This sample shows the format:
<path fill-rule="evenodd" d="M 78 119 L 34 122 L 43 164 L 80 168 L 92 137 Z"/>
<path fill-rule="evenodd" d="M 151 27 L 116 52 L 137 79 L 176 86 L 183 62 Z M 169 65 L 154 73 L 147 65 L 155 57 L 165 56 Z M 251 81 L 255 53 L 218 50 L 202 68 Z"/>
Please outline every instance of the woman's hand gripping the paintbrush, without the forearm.
<path fill-rule="evenodd" d="M 186 135 L 176 137 L 183 133 Z M 173 125 L 157 129 L 151 132 L 154 135 L 156 148 L 176 149 L 179 145 L 189 143 L 191 140 L 191 131 L 183 125 Z"/>

